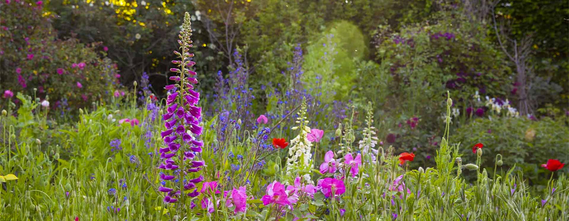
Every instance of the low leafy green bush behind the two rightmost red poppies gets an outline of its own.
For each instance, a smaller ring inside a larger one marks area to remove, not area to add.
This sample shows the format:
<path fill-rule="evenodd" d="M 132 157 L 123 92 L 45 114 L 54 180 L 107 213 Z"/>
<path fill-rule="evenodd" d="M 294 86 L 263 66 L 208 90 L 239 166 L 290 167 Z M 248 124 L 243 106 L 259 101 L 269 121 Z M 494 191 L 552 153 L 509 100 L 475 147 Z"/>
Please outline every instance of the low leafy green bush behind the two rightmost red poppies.
<path fill-rule="evenodd" d="M 483 168 L 494 168 L 494 156 L 501 154 L 507 170 L 518 166 L 532 185 L 545 185 L 551 172 L 541 168 L 547 159 L 567 159 L 569 127 L 565 120 L 542 118 L 479 118 L 457 128 L 451 140 L 461 144 L 463 159 L 474 161 L 471 147 L 484 144 Z M 567 171 L 567 168 L 563 169 Z"/>

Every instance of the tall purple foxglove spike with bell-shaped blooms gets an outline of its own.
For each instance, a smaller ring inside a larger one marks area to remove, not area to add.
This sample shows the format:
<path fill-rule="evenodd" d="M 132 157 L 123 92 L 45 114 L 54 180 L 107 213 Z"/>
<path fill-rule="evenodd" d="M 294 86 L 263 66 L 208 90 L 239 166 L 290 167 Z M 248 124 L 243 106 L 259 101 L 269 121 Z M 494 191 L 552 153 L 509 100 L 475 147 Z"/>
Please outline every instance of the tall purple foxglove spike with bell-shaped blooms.
<path fill-rule="evenodd" d="M 176 83 L 166 86 L 166 90 L 178 90 L 168 95 L 167 112 L 162 115 L 166 130 L 162 131 L 161 135 L 166 147 L 159 150 L 162 161 L 159 168 L 163 169 L 160 179 L 164 182 L 161 182 L 162 185 L 158 190 L 167 194 L 164 197 L 165 203 L 177 202 L 182 197 L 181 193 L 197 197 L 199 192 L 195 187 L 203 180 L 202 176 L 190 176 L 191 173 L 199 172 L 204 165 L 204 161 L 199 161 L 198 156 L 203 147 L 203 141 L 199 140 L 202 130 L 199 126 L 201 107 L 196 106 L 200 93 L 193 90 L 192 84 L 197 84 L 197 79 L 193 77 L 196 72 L 189 69 L 196 64 L 190 61 L 193 53 L 188 52 L 192 47 L 191 32 L 190 15 L 186 12 L 182 30 L 178 35 L 180 48 L 179 51 L 174 51 L 179 60 L 172 61 L 172 64 L 177 64 L 178 68 L 170 69 L 177 74 L 170 77 L 170 80 Z M 191 178 L 187 180 L 185 176 Z M 176 177 L 177 180 L 174 180 Z"/>

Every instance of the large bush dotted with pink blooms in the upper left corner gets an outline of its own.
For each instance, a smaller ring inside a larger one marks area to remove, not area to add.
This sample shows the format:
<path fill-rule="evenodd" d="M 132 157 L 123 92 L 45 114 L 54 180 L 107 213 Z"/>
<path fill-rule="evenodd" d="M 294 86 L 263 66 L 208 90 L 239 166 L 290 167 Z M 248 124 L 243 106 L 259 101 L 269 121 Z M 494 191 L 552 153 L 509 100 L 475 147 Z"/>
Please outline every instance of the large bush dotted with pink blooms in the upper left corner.
<path fill-rule="evenodd" d="M 42 6 L 35 3 L 2 3 L 2 91 L 21 91 L 42 99 L 49 94 L 52 105 L 64 98 L 73 107 L 107 102 L 104 98 L 109 97 L 104 95 L 117 86 L 113 85 L 116 65 L 94 50 L 98 43 L 57 39 L 50 23 L 54 17 L 42 13 Z"/>

